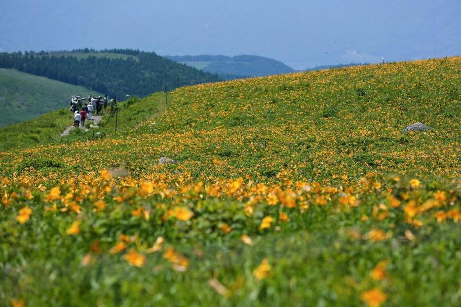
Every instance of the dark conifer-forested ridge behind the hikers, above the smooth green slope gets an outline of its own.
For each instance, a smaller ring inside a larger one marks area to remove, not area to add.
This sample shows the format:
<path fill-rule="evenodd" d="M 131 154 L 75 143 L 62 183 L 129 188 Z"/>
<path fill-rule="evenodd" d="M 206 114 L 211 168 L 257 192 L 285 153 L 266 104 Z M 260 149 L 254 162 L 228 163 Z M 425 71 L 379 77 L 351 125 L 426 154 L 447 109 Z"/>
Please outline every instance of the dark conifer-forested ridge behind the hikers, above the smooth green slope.
<path fill-rule="evenodd" d="M 89 53 L 87 57 L 73 53 Z M 131 49 L 102 50 L 101 53 L 131 55 L 128 58 L 95 56 L 99 51 L 78 49 L 54 55 L 48 52 L 0 53 L 0 68 L 81 85 L 91 90 L 123 98 L 125 95 L 147 96 L 178 86 L 219 81 L 217 75 L 199 71 L 158 56 L 154 52 Z M 65 55 L 63 55 L 63 53 Z"/>

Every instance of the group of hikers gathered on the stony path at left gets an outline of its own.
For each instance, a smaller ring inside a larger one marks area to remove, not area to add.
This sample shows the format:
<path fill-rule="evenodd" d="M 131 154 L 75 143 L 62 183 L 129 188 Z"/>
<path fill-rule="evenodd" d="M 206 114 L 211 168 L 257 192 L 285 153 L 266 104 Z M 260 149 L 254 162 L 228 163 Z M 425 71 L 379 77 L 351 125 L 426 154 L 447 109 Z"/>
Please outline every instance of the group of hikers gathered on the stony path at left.
<path fill-rule="evenodd" d="M 88 103 L 83 103 L 84 100 L 88 99 Z M 94 97 L 88 95 L 88 98 L 80 96 L 72 96 L 71 108 L 69 111 L 74 113 L 74 126 L 81 127 L 85 126 L 86 119 L 93 120 L 93 116 L 102 115 L 103 109 L 106 112 L 109 102 L 107 95 L 104 97 Z M 115 111 L 117 108 L 117 99 L 114 97 L 110 101 L 110 111 Z"/>

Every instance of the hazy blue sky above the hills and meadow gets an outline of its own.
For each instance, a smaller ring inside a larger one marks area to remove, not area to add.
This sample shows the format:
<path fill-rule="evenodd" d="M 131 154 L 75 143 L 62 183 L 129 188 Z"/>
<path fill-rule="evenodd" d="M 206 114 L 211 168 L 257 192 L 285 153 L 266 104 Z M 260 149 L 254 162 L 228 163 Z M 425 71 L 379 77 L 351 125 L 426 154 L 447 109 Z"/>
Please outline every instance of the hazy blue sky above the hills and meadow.
<path fill-rule="evenodd" d="M 0 0 L 0 51 L 254 54 L 295 69 L 461 55 L 461 0 Z"/>

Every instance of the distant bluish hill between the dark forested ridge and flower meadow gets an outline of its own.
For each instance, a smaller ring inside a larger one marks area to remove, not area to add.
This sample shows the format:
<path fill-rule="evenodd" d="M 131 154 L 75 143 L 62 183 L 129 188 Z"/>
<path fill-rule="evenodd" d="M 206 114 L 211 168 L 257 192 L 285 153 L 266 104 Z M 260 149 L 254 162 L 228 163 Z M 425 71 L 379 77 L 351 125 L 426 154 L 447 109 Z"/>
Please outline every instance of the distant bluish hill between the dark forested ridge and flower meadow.
<path fill-rule="evenodd" d="M 165 57 L 204 72 L 217 74 L 226 80 L 295 72 L 294 69 L 280 61 L 256 55 L 237 55 L 232 57 L 225 55 L 184 55 Z"/>

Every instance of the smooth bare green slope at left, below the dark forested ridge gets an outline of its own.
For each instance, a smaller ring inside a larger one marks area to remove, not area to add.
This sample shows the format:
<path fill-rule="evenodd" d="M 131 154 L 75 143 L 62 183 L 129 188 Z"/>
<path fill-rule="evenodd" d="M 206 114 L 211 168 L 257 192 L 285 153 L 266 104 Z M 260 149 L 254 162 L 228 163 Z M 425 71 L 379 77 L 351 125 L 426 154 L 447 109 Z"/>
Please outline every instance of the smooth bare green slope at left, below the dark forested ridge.
<path fill-rule="evenodd" d="M 0 127 L 66 107 L 72 95 L 89 93 L 100 95 L 81 86 L 0 69 Z"/>

